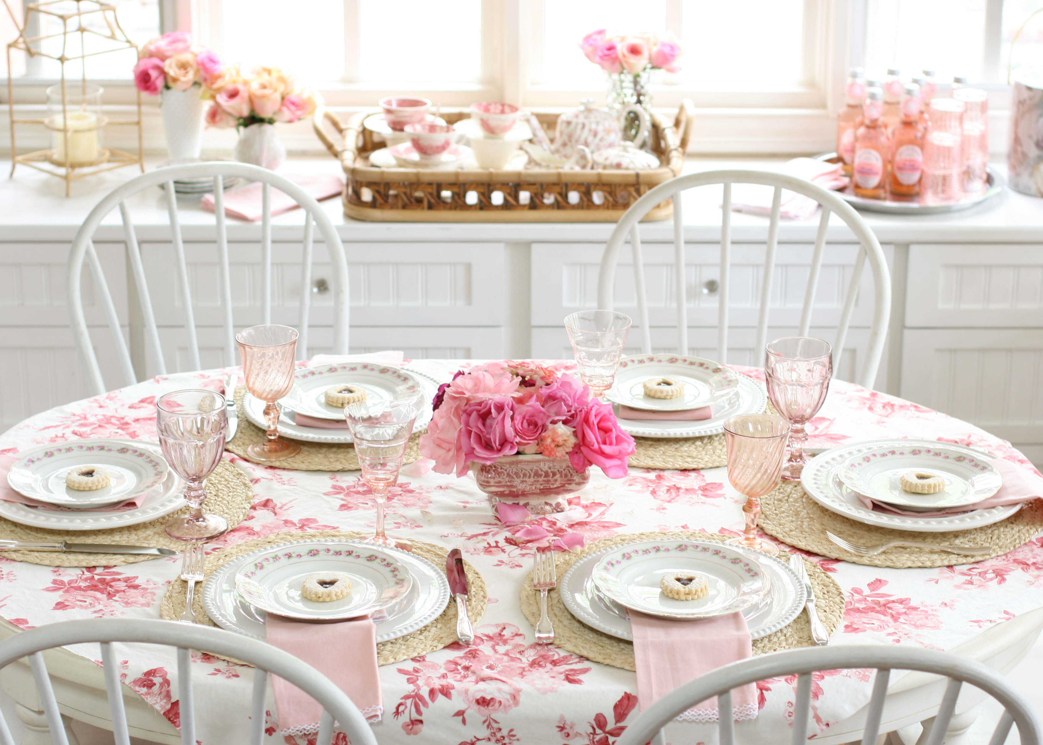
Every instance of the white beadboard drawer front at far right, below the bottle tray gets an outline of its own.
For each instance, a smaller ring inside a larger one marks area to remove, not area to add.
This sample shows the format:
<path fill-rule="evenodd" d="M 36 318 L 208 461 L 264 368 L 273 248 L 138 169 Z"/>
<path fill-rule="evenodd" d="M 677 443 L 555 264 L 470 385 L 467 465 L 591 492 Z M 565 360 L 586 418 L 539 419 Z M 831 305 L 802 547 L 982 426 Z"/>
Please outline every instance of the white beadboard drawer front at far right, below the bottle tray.
<path fill-rule="evenodd" d="M 1043 328 L 1043 244 L 911 245 L 905 326 Z"/>

